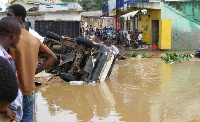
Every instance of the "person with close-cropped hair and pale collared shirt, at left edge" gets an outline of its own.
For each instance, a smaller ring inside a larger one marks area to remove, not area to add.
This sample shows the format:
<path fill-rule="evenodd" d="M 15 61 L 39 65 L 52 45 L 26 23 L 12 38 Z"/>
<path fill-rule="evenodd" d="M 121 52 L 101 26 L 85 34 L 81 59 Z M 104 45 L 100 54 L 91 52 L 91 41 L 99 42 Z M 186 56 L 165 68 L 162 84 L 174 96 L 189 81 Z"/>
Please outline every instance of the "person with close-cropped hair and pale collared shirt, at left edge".
<path fill-rule="evenodd" d="M 5 58 L 7 62 L 9 62 L 14 72 L 16 72 L 15 63 L 7 51 L 10 47 L 16 47 L 16 45 L 19 43 L 20 35 L 21 26 L 14 17 L 4 17 L 0 20 L 0 57 Z M 17 73 L 15 75 L 17 76 Z M 2 78 L 0 78 L 0 80 L 1 79 Z M 13 102 L 10 101 L 12 103 L 5 111 L 7 114 L 10 115 L 7 117 L 9 117 L 11 120 L 16 120 L 17 122 L 21 121 L 23 115 L 22 98 L 23 96 L 21 90 L 18 89 L 17 98 Z"/>

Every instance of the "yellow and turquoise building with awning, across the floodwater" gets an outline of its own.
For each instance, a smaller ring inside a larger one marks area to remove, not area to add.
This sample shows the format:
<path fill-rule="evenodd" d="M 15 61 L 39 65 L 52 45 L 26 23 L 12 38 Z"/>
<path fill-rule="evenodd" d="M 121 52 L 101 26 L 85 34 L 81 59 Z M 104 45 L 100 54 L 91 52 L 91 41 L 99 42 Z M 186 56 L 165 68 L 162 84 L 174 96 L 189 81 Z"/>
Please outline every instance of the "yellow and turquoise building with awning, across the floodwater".
<path fill-rule="evenodd" d="M 142 31 L 143 42 L 148 45 L 158 44 L 163 50 L 194 50 L 200 45 L 199 3 L 197 0 L 109 0 L 103 14 L 116 18 L 116 30 L 129 30 L 133 35 Z"/>

